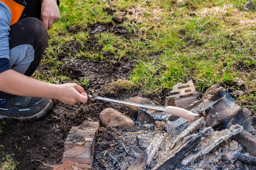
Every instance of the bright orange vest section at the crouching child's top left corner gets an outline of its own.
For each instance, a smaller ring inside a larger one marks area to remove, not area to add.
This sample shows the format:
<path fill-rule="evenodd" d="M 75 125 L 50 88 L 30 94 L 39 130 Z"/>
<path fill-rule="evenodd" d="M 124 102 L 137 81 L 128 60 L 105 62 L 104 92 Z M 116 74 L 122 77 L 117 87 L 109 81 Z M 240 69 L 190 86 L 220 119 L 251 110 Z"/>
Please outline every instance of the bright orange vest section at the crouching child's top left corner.
<path fill-rule="evenodd" d="M 17 23 L 17 21 L 19 20 L 23 12 L 23 9 L 26 6 L 26 3 L 20 0 L 0 0 L 0 1 L 6 4 L 6 6 L 8 6 L 8 8 L 11 10 L 10 26 L 12 26 L 12 24 Z"/>

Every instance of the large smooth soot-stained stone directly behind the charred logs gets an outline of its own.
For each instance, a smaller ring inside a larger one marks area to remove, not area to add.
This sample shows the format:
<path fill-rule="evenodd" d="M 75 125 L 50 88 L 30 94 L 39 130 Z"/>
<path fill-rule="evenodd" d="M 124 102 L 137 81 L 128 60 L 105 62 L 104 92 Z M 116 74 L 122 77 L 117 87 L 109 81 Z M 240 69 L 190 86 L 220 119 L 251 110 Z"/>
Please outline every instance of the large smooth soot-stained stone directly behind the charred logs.
<path fill-rule="evenodd" d="M 206 126 L 216 127 L 222 126 L 223 129 L 227 128 L 228 123 L 241 110 L 239 105 L 231 102 L 228 99 L 220 99 L 212 108 L 209 109 Z"/>

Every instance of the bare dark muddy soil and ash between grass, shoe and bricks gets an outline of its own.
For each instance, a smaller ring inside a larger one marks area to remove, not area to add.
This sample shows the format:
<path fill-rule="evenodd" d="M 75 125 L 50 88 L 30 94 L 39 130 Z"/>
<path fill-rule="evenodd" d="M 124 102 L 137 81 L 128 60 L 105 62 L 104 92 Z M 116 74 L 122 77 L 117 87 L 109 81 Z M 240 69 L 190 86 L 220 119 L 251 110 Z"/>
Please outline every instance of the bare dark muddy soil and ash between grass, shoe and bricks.
<path fill-rule="evenodd" d="M 108 10 L 108 9 L 106 9 Z M 111 11 L 109 11 L 111 12 Z M 87 29 L 81 30 L 79 27 L 74 26 L 67 28 L 67 31 L 76 33 L 78 31 L 89 31 L 90 38 L 85 45 L 79 44 L 73 40 L 63 46 L 63 53 L 58 56 L 61 61 L 65 61 L 59 74 L 66 74 L 73 79 L 84 79 L 88 75 L 89 86 L 85 88 L 88 94 L 98 94 L 99 96 L 113 98 L 113 99 L 127 99 L 133 96 L 142 96 L 151 99 L 156 105 L 164 105 L 164 100 L 169 92 L 164 89 L 159 94 L 145 95 L 141 90 L 134 91 L 118 91 L 114 94 L 105 92 L 105 85 L 117 79 L 127 78 L 131 73 L 135 56 L 131 59 L 122 57 L 118 62 L 101 62 L 100 60 L 91 60 L 86 57 L 75 58 L 79 50 L 84 51 L 100 51 L 101 46 L 96 45 L 97 38 L 94 34 L 103 31 L 112 32 L 119 36 L 127 37 L 128 31 L 118 24 L 125 20 L 125 18 L 117 20 L 113 18 L 113 22 L 109 23 L 93 23 Z M 70 58 L 66 54 L 71 54 Z M 158 54 L 157 54 L 158 55 Z M 154 58 L 157 55 L 149 54 L 149 57 Z M 113 59 L 114 55 L 111 53 L 103 53 L 105 59 Z M 105 60 L 104 59 L 104 60 Z M 45 71 L 47 67 L 40 66 L 39 71 Z M 65 83 L 65 82 L 62 82 Z M 57 100 L 53 100 L 54 106 L 52 111 L 44 118 L 36 122 L 19 122 L 15 120 L 5 120 L 5 124 L 1 125 L 3 133 L 0 136 L 0 158 L 6 154 L 14 153 L 14 159 L 20 161 L 17 165 L 17 170 L 51 170 L 52 167 L 43 165 L 43 161 L 52 166 L 61 164 L 63 155 L 64 142 L 72 126 L 80 125 L 84 120 L 99 121 L 99 113 L 105 108 L 115 108 L 116 110 L 130 116 L 136 120 L 137 112 L 127 108 L 123 105 L 110 103 L 105 101 L 88 101 L 87 104 L 77 104 L 74 106 L 64 105 Z M 100 124 L 101 127 L 102 124 Z M 135 128 L 101 128 L 99 130 L 98 143 L 96 144 L 93 169 L 120 169 L 131 164 L 136 158 L 136 154 L 131 151 L 133 145 L 138 146 L 136 142 L 136 135 L 128 135 L 127 132 L 137 132 L 147 130 L 144 127 Z M 124 136 L 120 138 L 118 136 Z M 115 144 L 117 143 L 117 144 Z M 123 147 L 122 143 L 125 145 Z M 111 147 L 111 144 L 115 144 Z M 104 153 L 108 149 L 105 156 Z M 125 151 L 128 150 L 128 153 Z M 115 157 L 116 159 L 113 159 Z M 39 161 L 38 161 L 39 160 Z M 110 166 L 111 165 L 111 166 Z M 243 163 L 239 163 L 238 169 L 243 169 Z M 217 166 L 223 169 L 221 166 Z M 247 165 L 246 165 L 247 167 Z M 183 169 L 178 167 L 179 169 Z M 186 168 L 188 169 L 188 168 Z"/>

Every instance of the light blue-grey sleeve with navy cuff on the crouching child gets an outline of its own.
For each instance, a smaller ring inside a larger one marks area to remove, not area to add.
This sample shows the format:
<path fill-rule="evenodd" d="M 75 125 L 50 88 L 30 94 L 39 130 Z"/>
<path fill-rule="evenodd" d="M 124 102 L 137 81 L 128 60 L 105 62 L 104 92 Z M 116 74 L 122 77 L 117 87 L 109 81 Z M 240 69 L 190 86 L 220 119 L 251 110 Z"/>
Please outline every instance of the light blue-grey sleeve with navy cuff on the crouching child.
<path fill-rule="evenodd" d="M 0 73 L 9 70 L 9 31 L 11 11 L 0 2 Z"/>

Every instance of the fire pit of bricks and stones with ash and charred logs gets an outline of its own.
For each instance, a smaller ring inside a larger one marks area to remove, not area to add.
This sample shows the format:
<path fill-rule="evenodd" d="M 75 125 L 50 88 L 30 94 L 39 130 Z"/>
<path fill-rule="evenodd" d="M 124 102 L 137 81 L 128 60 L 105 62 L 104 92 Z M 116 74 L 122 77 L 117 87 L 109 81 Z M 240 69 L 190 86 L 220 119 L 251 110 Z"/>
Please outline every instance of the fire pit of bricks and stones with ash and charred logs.
<path fill-rule="evenodd" d="M 253 165 L 247 164 L 256 163 L 251 113 L 226 99 L 226 93 L 223 87 L 213 85 L 198 100 L 192 81 L 175 85 L 171 96 L 166 97 L 166 106 L 179 106 L 199 114 L 194 121 L 127 105 L 139 113 L 134 122 L 107 108 L 99 116 L 106 127 L 84 122 L 71 128 L 63 161 L 76 161 L 88 169 L 252 169 Z M 125 101 L 154 105 L 139 96 Z"/>

